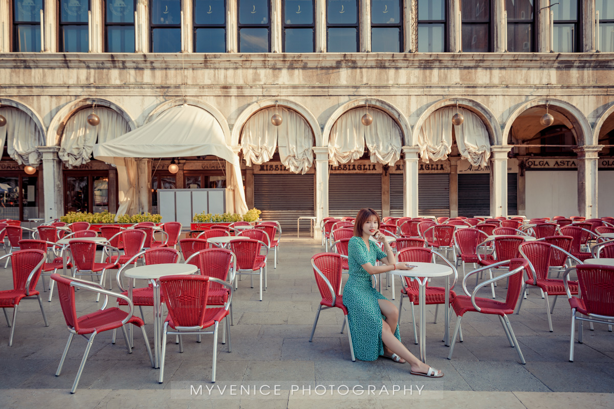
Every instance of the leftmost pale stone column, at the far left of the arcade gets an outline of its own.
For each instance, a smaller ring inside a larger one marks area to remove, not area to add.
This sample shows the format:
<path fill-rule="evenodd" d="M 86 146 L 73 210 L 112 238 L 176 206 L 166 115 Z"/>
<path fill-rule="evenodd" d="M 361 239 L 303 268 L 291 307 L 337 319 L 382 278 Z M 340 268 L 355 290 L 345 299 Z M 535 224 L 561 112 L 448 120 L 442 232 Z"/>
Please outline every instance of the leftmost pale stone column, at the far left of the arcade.
<path fill-rule="evenodd" d="M 45 221 L 64 215 L 64 188 L 62 162 L 58 158 L 60 147 L 37 147 L 42 153 L 42 174 L 45 195 Z"/>

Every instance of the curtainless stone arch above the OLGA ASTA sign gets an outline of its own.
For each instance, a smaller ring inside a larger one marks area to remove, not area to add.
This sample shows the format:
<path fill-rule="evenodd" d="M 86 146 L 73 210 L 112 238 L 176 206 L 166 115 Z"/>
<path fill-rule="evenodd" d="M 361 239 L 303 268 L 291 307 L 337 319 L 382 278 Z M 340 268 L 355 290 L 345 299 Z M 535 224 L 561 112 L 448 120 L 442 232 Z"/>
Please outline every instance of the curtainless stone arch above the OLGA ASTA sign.
<path fill-rule="evenodd" d="M 567 118 L 575 129 L 577 143 L 579 146 L 583 145 L 596 145 L 597 137 L 593 134 L 593 129 L 585 115 L 575 105 L 562 99 L 552 97 L 540 97 L 527 101 L 524 104 L 519 105 L 505 121 L 505 127 L 503 128 L 503 141 L 507 144 L 508 137 L 510 135 L 510 129 L 516 118 L 518 118 L 524 111 L 533 107 L 543 107 L 550 105 L 550 110 L 561 113 Z M 614 110 L 614 107 L 610 107 Z M 607 112 L 607 111 L 606 111 Z M 612 112 L 612 111 L 611 111 Z M 586 143 L 588 141 L 589 143 Z"/>

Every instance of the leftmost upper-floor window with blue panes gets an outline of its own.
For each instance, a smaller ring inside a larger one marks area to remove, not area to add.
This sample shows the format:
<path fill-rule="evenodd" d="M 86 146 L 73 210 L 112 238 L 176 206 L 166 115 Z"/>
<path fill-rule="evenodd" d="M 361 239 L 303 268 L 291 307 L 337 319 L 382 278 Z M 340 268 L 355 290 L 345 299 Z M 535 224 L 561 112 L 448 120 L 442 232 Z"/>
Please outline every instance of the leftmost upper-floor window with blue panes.
<path fill-rule="evenodd" d="M 42 0 L 13 1 L 13 51 L 41 51 Z"/>

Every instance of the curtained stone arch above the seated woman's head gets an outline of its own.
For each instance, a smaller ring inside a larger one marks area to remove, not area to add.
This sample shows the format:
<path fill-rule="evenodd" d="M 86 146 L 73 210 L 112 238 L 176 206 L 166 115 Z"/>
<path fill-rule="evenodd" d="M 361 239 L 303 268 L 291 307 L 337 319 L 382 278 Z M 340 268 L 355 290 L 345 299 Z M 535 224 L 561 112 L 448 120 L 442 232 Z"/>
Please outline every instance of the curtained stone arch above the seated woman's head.
<path fill-rule="evenodd" d="M 332 115 L 330 115 L 330 118 L 328 118 L 328 120 L 326 121 L 324 130 L 322 131 L 322 146 L 328 146 L 328 141 L 330 140 L 330 131 L 333 129 L 333 125 L 335 124 L 335 122 L 339 118 L 341 118 L 341 115 L 354 108 L 366 107 L 367 104 L 370 107 L 386 112 L 389 117 L 391 117 L 392 120 L 395 121 L 395 123 L 398 125 L 398 128 L 400 128 L 402 132 L 401 142 L 403 146 L 414 145 L 410 123 L 408 122 L 405 115 L 403 115 L 403 113 L 399 109 L 397 109 L 397 107 L 390 104 L 389 102 L 383 101 L 382 99 L 363 97 L 352 99 L 352 101 L 346 102 L 345 104 L 338 107 L 335 112 L 332 113 Z"/>

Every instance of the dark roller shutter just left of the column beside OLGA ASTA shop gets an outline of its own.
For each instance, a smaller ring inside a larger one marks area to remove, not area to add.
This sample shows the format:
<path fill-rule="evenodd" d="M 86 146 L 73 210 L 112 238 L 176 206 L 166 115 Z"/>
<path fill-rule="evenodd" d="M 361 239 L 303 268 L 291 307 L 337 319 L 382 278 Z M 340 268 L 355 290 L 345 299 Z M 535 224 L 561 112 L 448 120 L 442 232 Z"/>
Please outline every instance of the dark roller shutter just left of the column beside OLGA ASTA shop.
<path fill-rule="evenodd" d="M 491 214 L 491 175 L 459 174 L 459 216 Z"/>

